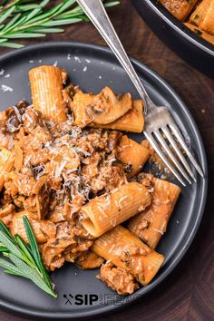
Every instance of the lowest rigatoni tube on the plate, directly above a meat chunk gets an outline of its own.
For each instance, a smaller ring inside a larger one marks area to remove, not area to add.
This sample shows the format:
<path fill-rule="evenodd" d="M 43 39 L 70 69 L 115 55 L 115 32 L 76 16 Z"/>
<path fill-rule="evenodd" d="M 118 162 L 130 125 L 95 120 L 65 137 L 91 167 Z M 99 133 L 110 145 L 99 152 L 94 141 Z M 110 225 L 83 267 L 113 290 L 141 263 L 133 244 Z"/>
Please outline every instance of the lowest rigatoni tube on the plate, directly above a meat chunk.
<path fill-rule="evenodd" d="M 161 254 L 120 225 L 97 238 L 91 249 L 117 268 L 130 271 L 143 286 L 151 282 L 164 260 Z"/>

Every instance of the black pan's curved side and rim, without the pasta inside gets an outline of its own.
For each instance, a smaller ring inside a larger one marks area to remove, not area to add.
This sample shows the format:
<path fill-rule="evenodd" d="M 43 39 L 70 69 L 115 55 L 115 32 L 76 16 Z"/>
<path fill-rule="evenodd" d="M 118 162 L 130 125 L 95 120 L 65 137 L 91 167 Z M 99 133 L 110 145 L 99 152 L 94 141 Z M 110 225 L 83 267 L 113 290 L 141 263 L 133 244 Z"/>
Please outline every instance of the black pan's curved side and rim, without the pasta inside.
<path fill-rule="evenodd" d="M 180 54 L 180 57 L 214 77 L 214 45 L 194 34 L 180 23 L 157 0 L 132 0 L 139 14 L 151 30 Z"/>

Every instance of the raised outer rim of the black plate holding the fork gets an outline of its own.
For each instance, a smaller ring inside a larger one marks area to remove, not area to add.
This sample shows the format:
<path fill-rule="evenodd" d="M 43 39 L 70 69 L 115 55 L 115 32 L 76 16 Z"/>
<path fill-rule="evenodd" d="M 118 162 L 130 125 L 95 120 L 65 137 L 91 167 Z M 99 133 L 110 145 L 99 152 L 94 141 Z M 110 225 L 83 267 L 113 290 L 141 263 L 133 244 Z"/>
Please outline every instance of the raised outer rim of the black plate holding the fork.
<path fill-rule="evenodd" d="M 73 42 L 73 41 L 57 41 L 57 42 L 42 42 L 39 44 L 30 44 L 25 46 L 24 48 L 14 50 L 9 53 L 5 53 L 2 56 L 0 56 L 0 63 L 3 63 L 5 60 L 8 60 L 10 58 L 13 58 L 17 55 L 22 55 L 26 52 L 31 52 L 34 50 L 39 50 L 41 48 L 52 48 L 52 47 L 79 47 L 83 49 L 91 49 L 96 52 L 102 52 L 104 54 L 109 55 L 111 58 L 115 57 L 114 54 L 112 53 L 111 49 L 109 49 L 106 46 L 102 46 L 99 44 L 88 44 L 88 43 L 83 43 L 83 42 Z M 24 316 L 33 316 L 33 317 L 43 317 L 43 318 L 51 318 L 51 319 L 83 319 L 85 317 L 92 317 L 92 316 L 101 316 L 104 314 L 111 313 L 112 311 L 116 311 L 119 309 L 122 309 L 128 305 L 131 305 L 132 303 L 139 301 L 141 297 L 147 295 L 148 293 L 151 292 L 152 289 L 160 285 L 165 278 L 169 277 L 171 271 L 178 266 L 180 263 L 181 258 L 184 257 L 184 255 L 187 253 L 188 249 L 190 248 L 190 245 L 192 244 L 193 239 L 195 238 L 195 235 L 199 229 L 199 224 L 201 222 L 201 219 L 203 217 L 205 205 L 206 205 L 206 200 L 207 200 L 207 195 L 208 195 L 208 161 L 207 161 L 207 156 L 204 148 L 204 144 L 202 141 L 202 138 L 199 133 L 198 126 L 196 122 L 194 121 L 188 107 L 186 106 L 185 102 L 181 99 L 180 95 L 171 87 L 170 83 L 167 83 L 158 73 L 154 72 L 149 66 L 147 66 L 145 63 L 142 63 L 140 60 L 131 58 L 131 62 L 135 67 L 140 69 L 143 73 L 149 74 L 154 80 L 157 80 L 161 86 L 165 87 L 168 89 L 170 94 L 173 96 L 173 98 L 179 102 L 180 104 L 180 109 L 184 113 L 185 117 L 187 117 L 187 120 L 190 122 L 190 126 L 192 128 L 192 131 L 194 133 L 194 136 L 199 144 L 199 156 L 200 156 L 200 162 L 202 165 L 202 168 L 204 169 L 204 172 L 206 174 L 205 178 L 201 180 L 201 199 L 199 201 L 199 209 L 198 209 L 198 216 L 197 219 L 194 222 L 194 225 L 192 227 L 192 230 L 189 233 L 189 236 L 185 242 L 185 246 L 183 248 L 180 248 L 178 253 L 176 253 L 175 258 L 173 261 L 170 263 L 170 267 L 166 268 L 164 272 L 158 277 L 158 279 L 154 279 L 151 283 L 151 285 L 147 286 L 147 291 L 146 293 L 140 293 L 139 296 L 133 298 L 131 302 L 127 300 L 127 302 L 123 303 L 121 306 L 98 306 L 95 308 L 94 311 L 64 311 L 62 312 L 50 312 L 50 311 L 36 311 L 35 309 L 32 310 L 30 308 L 27 308 L 25 306 L 17 306 L 14 303 L 8 303 L 4 299 L 0 297 L 0 306 L 4 308 L 7 311 L 10 312 L 15 312 L 19 315 L 24 315 Z M 145 287 L 141 287 L 139 291 L 141 291 Z"/>

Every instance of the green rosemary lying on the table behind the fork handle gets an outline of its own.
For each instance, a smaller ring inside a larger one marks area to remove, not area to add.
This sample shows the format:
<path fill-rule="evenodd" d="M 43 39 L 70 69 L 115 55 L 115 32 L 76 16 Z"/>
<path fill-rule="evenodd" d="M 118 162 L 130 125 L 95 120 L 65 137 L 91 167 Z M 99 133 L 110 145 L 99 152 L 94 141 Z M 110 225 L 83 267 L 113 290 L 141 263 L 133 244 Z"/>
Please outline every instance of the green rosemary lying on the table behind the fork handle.
<path fill-rule="evenodd" d="M 0 46 L 21 48 L 24 44 L 11 39 L 39 38 L 48 33 L 63 33 L 62 26 L 88 21 L 75 0 L 63 0 L 59 5 L 45 9 L 50 0 L 32 2 L 12 0 L 0 6 Z M 119 5 L 120 1 L 103 0 L 105 7 Z"/>

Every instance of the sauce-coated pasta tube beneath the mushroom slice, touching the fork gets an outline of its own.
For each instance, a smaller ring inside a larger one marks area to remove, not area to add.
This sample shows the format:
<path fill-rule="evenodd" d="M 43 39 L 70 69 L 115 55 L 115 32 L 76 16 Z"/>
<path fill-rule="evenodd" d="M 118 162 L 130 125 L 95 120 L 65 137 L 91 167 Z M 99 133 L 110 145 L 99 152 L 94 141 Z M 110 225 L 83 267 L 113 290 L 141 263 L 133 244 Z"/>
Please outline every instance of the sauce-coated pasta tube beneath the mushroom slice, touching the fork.
<path fill-rule="evenodd" d="M 142 101 L 140 99 L 132 101 L 131 110 L 115 122 L 99 126 L 92 122 L 90 126 L 106 130 L 141 132 L 144 126 Z"/>

